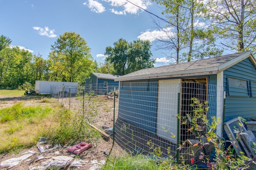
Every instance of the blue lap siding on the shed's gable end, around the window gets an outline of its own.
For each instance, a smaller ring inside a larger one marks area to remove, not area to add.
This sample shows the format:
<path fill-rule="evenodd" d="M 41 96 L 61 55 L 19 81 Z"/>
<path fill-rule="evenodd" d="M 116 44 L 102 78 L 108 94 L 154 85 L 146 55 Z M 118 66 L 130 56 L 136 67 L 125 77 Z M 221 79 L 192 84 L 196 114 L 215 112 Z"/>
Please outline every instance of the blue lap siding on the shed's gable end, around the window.
<path fill-rule="evenodd" d="M 228 87 L 228 77 L 247 81 L 248 90 Z M 224 70 L 224 91 L 229 92 L 228 96 L 226 96 L 225 121 L 238 116 L 247 120 L 250 117 L 256 118 L 255 82 L 256 68 L 250 59 L 245 59 Z"/>

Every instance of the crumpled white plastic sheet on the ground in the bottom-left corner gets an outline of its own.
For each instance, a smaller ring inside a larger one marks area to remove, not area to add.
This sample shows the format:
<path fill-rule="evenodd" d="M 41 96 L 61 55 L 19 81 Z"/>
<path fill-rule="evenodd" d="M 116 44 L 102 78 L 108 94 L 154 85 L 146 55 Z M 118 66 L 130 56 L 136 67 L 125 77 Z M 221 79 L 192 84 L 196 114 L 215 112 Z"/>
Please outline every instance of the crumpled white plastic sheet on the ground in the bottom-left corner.
<path fill-rule="evenodd" d="M 12 168 L 12 167 L 18 165 L 22 160 L 26 160 L 27 158 L 32 156 L 34 153 L 36 153 L 36 152 L 33 150 L 29 150 L 28 152 L 26 152 L 25 155 L 22 155 L 18 158 L 10 158 L 8 160 L 4 160 L 3 162 L 1 162 L 0 167 L 8 167 L 8 169 Z"/>

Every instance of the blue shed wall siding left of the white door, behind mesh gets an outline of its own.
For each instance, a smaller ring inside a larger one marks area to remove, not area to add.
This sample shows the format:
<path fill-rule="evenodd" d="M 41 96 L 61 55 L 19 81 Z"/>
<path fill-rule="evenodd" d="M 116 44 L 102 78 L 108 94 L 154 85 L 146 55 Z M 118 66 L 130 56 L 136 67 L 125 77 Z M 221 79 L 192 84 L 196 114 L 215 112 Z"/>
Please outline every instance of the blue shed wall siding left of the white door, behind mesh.
<path fill-rule="evenodd" d="M 120 83 L 118 117 L 156 133 L 157 83 Z"/>

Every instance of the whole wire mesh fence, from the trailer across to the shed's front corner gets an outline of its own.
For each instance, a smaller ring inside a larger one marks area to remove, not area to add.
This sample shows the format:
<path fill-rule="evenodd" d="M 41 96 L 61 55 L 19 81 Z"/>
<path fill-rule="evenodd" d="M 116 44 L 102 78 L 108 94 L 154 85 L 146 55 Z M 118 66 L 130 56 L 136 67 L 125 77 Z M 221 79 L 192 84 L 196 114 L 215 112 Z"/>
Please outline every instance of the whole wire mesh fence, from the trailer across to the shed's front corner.
<path fill-rule="evenodd" d="M 177 80 L 63 87 L 53 96 L 70 110 L 85 113 L 95 127 L 114 129 L 108 134 L 127 152 L 171 156 L 186 164 L 193 159 L 203 165 L 200 154 L 212 154 L 211 145 L 194 146 L 209 130 L 205 122 L 216 121 L 223 109 L 222 88 Z M 199 108 L 201 117 L 195 111 Z M 218 126 L 216 133 L 220 131 Z"/>

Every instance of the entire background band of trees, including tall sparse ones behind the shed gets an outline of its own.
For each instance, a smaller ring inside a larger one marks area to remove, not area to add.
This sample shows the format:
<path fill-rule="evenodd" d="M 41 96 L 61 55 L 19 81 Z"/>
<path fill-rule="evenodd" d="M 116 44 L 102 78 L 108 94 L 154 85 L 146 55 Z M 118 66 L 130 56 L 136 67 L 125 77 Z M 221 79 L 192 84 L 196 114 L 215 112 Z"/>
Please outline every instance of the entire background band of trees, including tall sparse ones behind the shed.
<path fill-rule="evenodd" d="M 164 26 L 155 20 L 163 34 L 155 37 L 158 50 L 168 51 L 170 64 L 222 55 L 224 51 L 256 53 L 255 0 L 152 0 L 160 5 Z M 0 36 L 0 88 L 17 88 L 35 80 L 83 83 L 91 72 L 124 75 L 156 63 L 150 41 L 127 42 L 118 39 L 106 47 L 106 60 L 93 60 L 86 41 L 66 32 L 51 46 L 48 59 L 40 54 L 11 47 Z"/>

